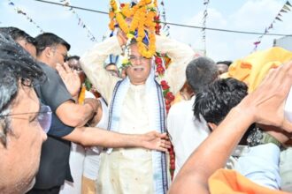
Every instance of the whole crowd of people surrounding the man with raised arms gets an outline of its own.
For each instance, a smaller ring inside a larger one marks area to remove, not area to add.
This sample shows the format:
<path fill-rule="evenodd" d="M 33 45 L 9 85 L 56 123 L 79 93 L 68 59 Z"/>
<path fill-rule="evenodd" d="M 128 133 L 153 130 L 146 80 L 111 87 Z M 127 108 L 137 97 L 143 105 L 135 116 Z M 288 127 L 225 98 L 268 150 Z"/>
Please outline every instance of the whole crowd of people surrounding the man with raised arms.
<path fill-rule="evenodd" d="M 292 52 L 215 63 L 156 35 L 171 59 L 162 78 L 127 39 L 68 57 L 57 34 L 0 27 L 0 193 L 292 191 Z M 168 113 L 162 81 L 176 94 Z"/>

